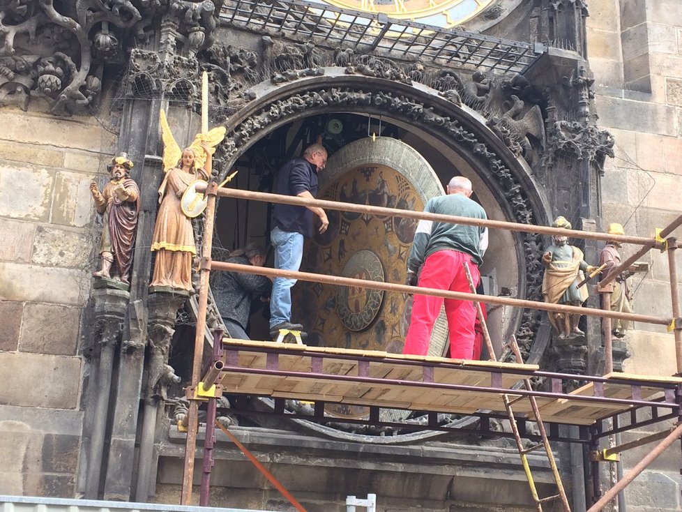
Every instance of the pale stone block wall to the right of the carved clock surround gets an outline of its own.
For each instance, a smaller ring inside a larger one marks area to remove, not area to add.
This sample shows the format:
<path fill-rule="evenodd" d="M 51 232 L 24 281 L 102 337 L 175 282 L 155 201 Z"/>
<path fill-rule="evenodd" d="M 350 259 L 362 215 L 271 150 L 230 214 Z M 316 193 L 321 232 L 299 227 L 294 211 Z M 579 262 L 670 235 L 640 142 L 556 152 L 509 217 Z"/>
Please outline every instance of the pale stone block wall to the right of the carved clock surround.
<path fill-rule="evenodd" d="M 616 139 L 616 157 L 607 161 L 602 180 L 601 227 L 616 222 L 628 234 L 653 236 L 656 227 L 682 214 L 682 2 L 592 0 L 589 7 L 588 51 L 598 123 Z M 674 234 L 682 237 L 682 229 Z M 622 253 L 627 256 L 635 249 L 626 246 Z M 682 254 L 677 253 L 679 265 Z M 649 273 L 630 279 L 635 313 L 672 315 L 667 255 L 651 251 L 643 260 L 651 265 Z M 682 276 L 678 280 L 682 282 Z M 623 369 L 673 375 L 677 368 L 672 333 L 646 324 L 635 329 L 626 338 L 632 357 Z M 652 447 L 626 453 L 626 471 Z M 679 444 L 674 444 L 628 487 L 628 511 L 682 510 L 681 465 Z"/>

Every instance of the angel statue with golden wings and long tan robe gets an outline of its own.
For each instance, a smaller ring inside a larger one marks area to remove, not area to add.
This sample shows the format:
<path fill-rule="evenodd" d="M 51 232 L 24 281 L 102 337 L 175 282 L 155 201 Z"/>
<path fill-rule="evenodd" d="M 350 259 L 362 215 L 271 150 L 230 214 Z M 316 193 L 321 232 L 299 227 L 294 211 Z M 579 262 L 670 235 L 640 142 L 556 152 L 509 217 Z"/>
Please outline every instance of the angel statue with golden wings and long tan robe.
<path fill-rule="evenodd" d="M 211 156 L 215 146 L 225 137 L 225 127 L 199 133 L 190 146 L 181 150 L 163 110 L 160 112 L 160 125 L 165 176 L 159 187 L 160 206 L 151 239 L 156 264 L 150 286 L 193 292 L 192 259 L 197 248 L 192 220 L 181 208 L 181 202 L 185 191 L 195 186 L 197 180 L 208 181 L 211 176 Z"/>

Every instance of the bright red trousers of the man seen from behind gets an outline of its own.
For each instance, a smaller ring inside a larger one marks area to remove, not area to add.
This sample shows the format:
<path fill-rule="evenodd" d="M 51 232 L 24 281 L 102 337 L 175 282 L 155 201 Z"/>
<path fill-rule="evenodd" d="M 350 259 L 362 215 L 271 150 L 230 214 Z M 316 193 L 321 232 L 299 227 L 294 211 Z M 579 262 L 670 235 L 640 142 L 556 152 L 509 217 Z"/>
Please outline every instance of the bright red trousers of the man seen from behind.
<path fill-rule="evenodd" d="M 471 256 L 456 250 L 439 250 L 427 257 L 421 269 L 418 286 L 450 290 L 452 292 L 471 292 L 464 262 L 469 264 L 474 286 L 478 285 L 480 273 L 478 266 L 471 262 Z M 431 331 L 441 312 L 445 300 L 445 312 L 450 331 L 450 357 L 453 359 L 473 359 L 473 323 L 476 320 L 476 305 L 471 301 L 456 301 L 430 295 L 414 294 L 412 317 L 403 354 L 425 356 L 429 350 Z"/>

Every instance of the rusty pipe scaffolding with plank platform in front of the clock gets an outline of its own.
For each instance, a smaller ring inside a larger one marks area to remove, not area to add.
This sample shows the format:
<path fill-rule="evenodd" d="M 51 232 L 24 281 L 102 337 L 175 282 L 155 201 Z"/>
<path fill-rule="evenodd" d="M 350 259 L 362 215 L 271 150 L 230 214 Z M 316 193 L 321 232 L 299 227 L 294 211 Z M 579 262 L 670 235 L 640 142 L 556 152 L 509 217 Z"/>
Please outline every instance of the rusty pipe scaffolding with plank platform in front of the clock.
<path fill-rule="evenodd" d="M 249 412 L 249 414 L 286 414 L 287 419 L 305 419 L 325 423 L 327 421 L 338 421 L 338 418 L 328 416 L 325 406 L 328 403 L 341 403 L 361 405 L 369 409 L 367 418 L 344 420 L 348 423 L 391 426 L 405 430 L 456 430 L 457 432 L 476 432 L 478 435 L 507 437 L 516 435 L 524 439 L 541 442 L 548 439 L 587 446 L 591 454 L 593 485 L 593 502 L 588 512 L 603 510 L 662 451 L 665 451 L 676 439 L 682 436 L 682 317 L 675 259 L 678 244 L 675 237 L 670 236 L 674 229 L 682 225 L 682 216 L 676 218 L 665 229 L 658 231 L 655 238 L 647 238 L 232 190 L 219 188 L 217 183 L 209 183 L 205 189 L 208 196 L 208 206 L 206 208 L 202 259 L 199 264 L 201 288 L 199 290 L 192 384 L 187 393 L 187 397 L 190 399 L 190 408 L 181 504 L 190 503 L 192 495 L 197 431 L 199 428 L 198 407 L 202 400 L 208 400 L 209 404 L 199 502 L 202 505 L 208 504 L 211 467 L 213 466 L 211 450 L 215 440 L 212 434 L 209 435 L 208 430 L 215 423 L 216 402 L 222 392 L 269 397 L 274 400 L 271 413 Z M 203 189 L 199 191 L 204 192 Z M 395 283 L 213 262 L 211 260 L 213 223 L 215 202 L 219 196 L 298 206 L 318 206 L 337 211 L 433 220 L 462 225 L 478 225 L 514 232 L 562 235 L 593 241 L 617 241 L 637 244 L 642 248 L 597 285 L 596 290 L 603 299 L 602 308 L 582 308 L 503 296 L 419 288 L 419 294 L 441 296 L 446 299 L 601 317 L 603 318 L 606 369 L 603 376 L 543 371 L 537 365 L 524 364 L 519 361 L 520 354 L 517 354 L 517 362 L 515 363 L 468 361 L 336 347 L 308 347 L 278 342 L 234 340 L 223 338 L 220 331 L 215 333 L 213 338 L 213 353 L 209 371 L 202 375 L 204 330 L 206 328 L 208 284 L 211 270 L 247 272 L 268 277 L 295 278 L 315 283 L 380 289 L 386 292 L 404 294 L 415 292 L 414 287 Z M 663 250 L 668 256 L 672 317 L 654 317 L 610 310 L 609 296 L 613 291 L 612 280 L 652 248 Z M 610 325 L 612 319 L 658 324 L 667 326 L 669 331 L 673 331 L 676 375 L 654 377 L 613 372 Z M 530 385 L 524 386 L 524 382 L 528 384 L 532 378 L 545 379 L 550 391 L 533 389 Z M 565 384 L 575 379 L 586 384 L 574 391 L 566 391 Z M 528 400 L 523 400 L 524 398 Z M 305 400 L 312 403 L 312 416 L 300 412 L 285 411 L 287 400 Z M 513 412 L 510 409 L 511 404 L 514 404 Z M 425 411 L 427 421 L 420 425 L 402 421 L 386 421 L 380 414 L 381 409 Z M 478 428 L 468 430 L 467 428 L 441 425 L 437 421 L 439 413 L 475 416 L 479 420 Z M 542 417 L 540 417 L 540 413 Z M 493 432 L 491 421 L 507 417 L 510 418 L 510 423 L 517 423 L 518 430 L 514 432 Z M 633 442 L 600 450 L 601 439 L 669 420 L 676 421 L 676 426 Z M 536 421 L 538 425 L 543 427 L 541 429 L 543 435 L 526 432 L 525 421 Z M 568 429 L 568 435 L 565 432 L 561 432 L 560 435 L 559 428 L 562 425 L 577 428 Z M 547 429 L 546 435 L 545 428 Z M 600 462 L 614 460 L 614 456 L 622 451 L 657 441 L 659 444 L 653 447 L 642 461 L 604 495 L 601 495 Z M 539 446 L 543 446 L 543 444 L 541 443 Z M 520 454 L 523 455 L 521 449 Z M 551 457 L 549 450 L 547 454 Z M 529 483 L 532 483 L 530 479 Z M 542 501 L 544 500 L 540 500 L 540 502 Z M 538 511 L 541 511 L 541 503 L 538 500 L 536 500 L 536 505 L 538 505 Z"/>

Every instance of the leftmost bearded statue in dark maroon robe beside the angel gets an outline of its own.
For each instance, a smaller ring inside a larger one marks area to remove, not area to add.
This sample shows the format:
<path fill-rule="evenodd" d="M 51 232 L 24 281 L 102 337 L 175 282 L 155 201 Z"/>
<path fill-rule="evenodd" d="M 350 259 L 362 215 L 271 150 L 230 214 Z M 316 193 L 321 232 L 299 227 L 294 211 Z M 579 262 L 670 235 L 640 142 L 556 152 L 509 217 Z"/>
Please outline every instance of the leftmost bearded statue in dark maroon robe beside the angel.
<path fill-rule="evenodd" d="M 109 183 L 103 190 L 94 181 L 90 193 L 95 208 L 102 215 L 102 241 L 100 269 L 93 272 L 96 278 L 107 278 L 129 284 L 128 274 L 132 266 L 132 250 L 135 245 L 135 228 L 139 214 L 139 188 L 130 178 L 133 163 L 126 153 L 112 158 Z"/>

